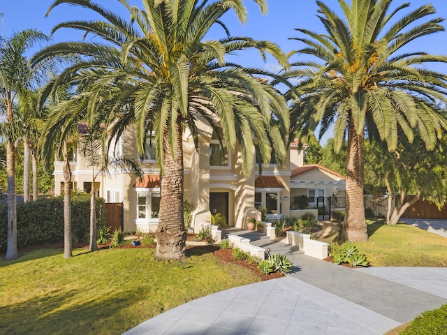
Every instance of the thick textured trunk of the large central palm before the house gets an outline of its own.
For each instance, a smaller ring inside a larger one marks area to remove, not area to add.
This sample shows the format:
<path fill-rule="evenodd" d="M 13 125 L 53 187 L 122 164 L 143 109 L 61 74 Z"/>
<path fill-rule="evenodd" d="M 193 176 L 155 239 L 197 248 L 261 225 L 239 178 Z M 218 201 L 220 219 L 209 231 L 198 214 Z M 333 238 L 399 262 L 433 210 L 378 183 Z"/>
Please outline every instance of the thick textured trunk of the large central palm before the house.
<path fill-rule="evenodd" d="M 183 145 L 182 127 L 177 123 L 174 157 L 168 135 L 163 141 L 163 177 L 159 226 L 156 230 L 156 259 L 182 260 L 185 258 L 186 232 L 183 219 Z"/>

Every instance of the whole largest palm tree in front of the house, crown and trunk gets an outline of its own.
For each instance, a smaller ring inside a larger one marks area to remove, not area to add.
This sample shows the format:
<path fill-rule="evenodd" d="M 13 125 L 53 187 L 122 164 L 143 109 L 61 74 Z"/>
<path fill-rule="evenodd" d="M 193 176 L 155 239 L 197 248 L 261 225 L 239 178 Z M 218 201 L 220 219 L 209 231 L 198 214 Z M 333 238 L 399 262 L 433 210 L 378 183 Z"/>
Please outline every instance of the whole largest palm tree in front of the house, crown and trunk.
<path fill-rule="evenodd" d="M 254 1 L 265 13 L 265 0 Z M 189 128 L 198 146 L 197 124 L 209 123 L 226 140 L 229 151 L 240 149 L 247 174 L 254 167 L 253 144 L 260 149 L 263 162 L 270 161 L 272 152 L 277 161 L 284 161 L 289 126 L 286 103 L 280 92 L 263 79 L 277 76 L 226 63 L 225 57 L 255 49 L 262 57 L 272 54 L 282 66 L 288 66 L 287 59 L 273 43 L 229 35 L 221 18 L 234 10 L 245 22 L 247 13 L 242 0 L 142 0 L 143 8 L 120 0 L 130 21 L 88 0 L 56 0 L 49 11 L 61 3 L 88 8 L 101 15 L 103 21 L 64 22 L 53 31 L 79 29 L 103 42 L 59 43 L 35 55 L 35 62 L 66 54 L 82 57 L 47 87 L 49 94 L 62 83 L 89 83 L 89 89 L 76 96 L 71 107 L 60 110 L 59 119 L 69 120 L 72 113 L 85 112 L 91 125 L 95 113 L 107 113 L 106 124 L 116 120 L 117 135 L 135 124 L 140 152 L 147 130 L 156 132 L 162 176 L 156 257 L 184 258 L 185 129 Z M 226 36 L 204 40 L 214 26 L 222 27 Z"/>

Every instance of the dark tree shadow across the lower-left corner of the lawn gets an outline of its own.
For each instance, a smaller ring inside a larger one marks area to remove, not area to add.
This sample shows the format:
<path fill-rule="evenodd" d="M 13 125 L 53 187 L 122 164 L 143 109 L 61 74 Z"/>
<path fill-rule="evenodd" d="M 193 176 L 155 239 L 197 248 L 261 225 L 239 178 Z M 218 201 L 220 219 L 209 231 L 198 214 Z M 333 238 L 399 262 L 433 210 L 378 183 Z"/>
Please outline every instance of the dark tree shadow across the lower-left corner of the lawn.
<path fill-rule="evenodd" d="M 125 318 L 128 307 L 135 304 L 135 292 L 109 293 L 101 299 L 92 297 L 75 306 L 64 306 L 73 303 L 77 290 L 55 290 L 50 295 L 3 306 L 0 307 L 0 334 L 122 334 L 126 328 L 136 325 L 126 327 L 120 321 Z"/>

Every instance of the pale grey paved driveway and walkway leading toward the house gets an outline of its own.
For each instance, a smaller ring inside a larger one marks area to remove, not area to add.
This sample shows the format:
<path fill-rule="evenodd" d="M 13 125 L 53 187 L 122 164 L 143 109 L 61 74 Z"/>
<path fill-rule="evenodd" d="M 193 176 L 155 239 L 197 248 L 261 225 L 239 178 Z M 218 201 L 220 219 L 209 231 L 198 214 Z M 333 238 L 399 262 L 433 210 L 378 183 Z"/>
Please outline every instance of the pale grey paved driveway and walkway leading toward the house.
<path fill-rule="evenodd" d="M 383 334 L 447 303 L 447 268 L 348 269 L 258 232 L 237 234 L 287 255 L 292 273 L 190 301 L 124 334 Z"/>

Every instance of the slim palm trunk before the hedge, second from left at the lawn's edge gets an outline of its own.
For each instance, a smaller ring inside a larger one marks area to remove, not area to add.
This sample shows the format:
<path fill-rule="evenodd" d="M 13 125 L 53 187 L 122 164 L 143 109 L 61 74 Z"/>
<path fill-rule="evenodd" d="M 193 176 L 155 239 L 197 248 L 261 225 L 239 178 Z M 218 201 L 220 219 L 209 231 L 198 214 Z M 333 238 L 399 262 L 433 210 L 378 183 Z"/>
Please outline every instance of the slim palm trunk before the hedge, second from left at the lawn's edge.
<path fill-rule="evenodd" d="M 71 258 L 73 256 L 71 244 L 71 168 L 66 141 L 64 141 L 62 156 L 64 156 L 64 166 L 62 168 L 64 173 L 64 258 Z"/>

